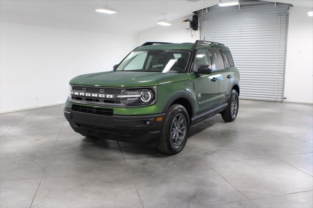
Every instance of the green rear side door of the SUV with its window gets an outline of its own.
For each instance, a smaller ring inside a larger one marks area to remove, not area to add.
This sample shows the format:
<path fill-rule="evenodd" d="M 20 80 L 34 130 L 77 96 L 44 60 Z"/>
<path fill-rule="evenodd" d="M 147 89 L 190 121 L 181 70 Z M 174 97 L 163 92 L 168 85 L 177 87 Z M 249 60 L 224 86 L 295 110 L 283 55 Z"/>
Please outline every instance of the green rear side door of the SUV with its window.
<path fill-rule="evenodd" d="M 219 49 L 210 49 L 210 53 L 213 60 L 213 70 L 216 74 L 218 74 L 219 79 L 219 93 L 218 93 L 218 103 L 222 104 L 227 101 L 230 87 L 231 87 L 231 79 L 232 73 L 228 70 L 227 64 L 223 57 L 223 52 Z"/>

